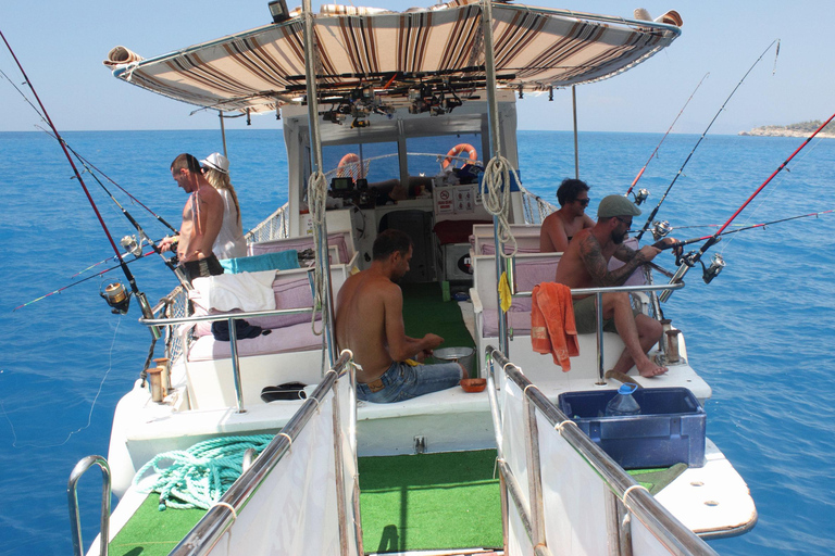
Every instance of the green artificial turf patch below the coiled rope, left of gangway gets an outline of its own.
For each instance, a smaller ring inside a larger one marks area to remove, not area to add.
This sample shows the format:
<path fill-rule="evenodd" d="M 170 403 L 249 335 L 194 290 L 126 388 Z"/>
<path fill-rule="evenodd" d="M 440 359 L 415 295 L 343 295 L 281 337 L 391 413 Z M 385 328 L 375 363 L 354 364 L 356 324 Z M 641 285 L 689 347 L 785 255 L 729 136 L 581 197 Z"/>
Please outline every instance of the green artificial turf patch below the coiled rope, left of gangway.
<path fill-rule="evenodd" d="M 160 495 L 152 492 L 110 543 L 111 556 L 165 556 L 194 529 L 204 509 L 160 511 Z"/>

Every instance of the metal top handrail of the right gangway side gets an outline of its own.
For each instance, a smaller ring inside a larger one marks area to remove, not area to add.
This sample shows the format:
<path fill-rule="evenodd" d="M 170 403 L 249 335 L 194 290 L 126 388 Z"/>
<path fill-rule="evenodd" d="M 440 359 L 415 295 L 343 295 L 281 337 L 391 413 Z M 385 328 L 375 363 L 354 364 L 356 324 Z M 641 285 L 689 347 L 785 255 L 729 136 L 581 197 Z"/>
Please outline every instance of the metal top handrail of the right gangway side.
<path fill-rule="evenodd" d="M 670 511 L 659 504 L 656 498 L 649 494 L 646 489 L 634 488 L 638 483 L 624 471 L 606 452 L 603 452 L 595 442 L 576 427 L 565 414 L 563 414 L 548 397 L 534 386 L 522 369 L 507 359 L 504 355 L 496 348 L 488 345 L 486 349 L 487 357 L 504 371 L 510 380 L 522 391 L 522 394 L 529 400 L 531 404 L 538 409 L 548 422 L 565 439 L 569 445 L 579 454 L 589 466 L 606 481 L 609 489 L 618 496 L 625 507 L 635 514 L 647 529 L 661 541 L 671 553 L 682 556 L 708 556 L 716 553 L 710 548 L 696 533 L 682 525 Z M 494 372 L 491 370 L 490 372 Z M 571 426 L 563 427 L 563 424 Z M 534 439 L 535 435 L 532 435 Z M 500 467 L 502 473 L 512 472 L 509 467 Z M 512 478 L 512 476 L 511 476 Z M 515 481 L 515 479 L 513 479 Z M 506 482 L 511 481 L 506 478 Z M 511 498 L 515 495 L 511 493 Z M 520 500 L 524 500 L 521 498 Z M 540 501 L 532 501 L 540 502 Z M 526 511 L 526 508 L 519 507 L 520 513 Z M 523 516 L 529 522 L 529 514 Z M 523 519 L 525 522 L 525 519 Z"/>

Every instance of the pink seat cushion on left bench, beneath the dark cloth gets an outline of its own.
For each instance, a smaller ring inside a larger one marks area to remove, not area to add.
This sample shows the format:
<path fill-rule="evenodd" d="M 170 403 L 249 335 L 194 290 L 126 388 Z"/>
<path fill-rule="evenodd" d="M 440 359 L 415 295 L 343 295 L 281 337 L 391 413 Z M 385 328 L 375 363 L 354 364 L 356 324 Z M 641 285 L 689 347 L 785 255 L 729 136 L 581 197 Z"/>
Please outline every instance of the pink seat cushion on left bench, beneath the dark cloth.
<path fill-rule="evenodd" d="M 322 323 L 316 323 L 316 330 L 322 329 Z M 271 353 L 300 352 L 322 348 L 322 337 L 315 336 L 310 329 L 310 321 L 278 328 L 267 336 L 259 336 L 238 340 L 238 355 L 267 355 Z M 188 350 L 188 361 L 224 359 L 232 356 L 229 342 L 221 342 L 213 336 L 203 336 L 191 343 Z"/>

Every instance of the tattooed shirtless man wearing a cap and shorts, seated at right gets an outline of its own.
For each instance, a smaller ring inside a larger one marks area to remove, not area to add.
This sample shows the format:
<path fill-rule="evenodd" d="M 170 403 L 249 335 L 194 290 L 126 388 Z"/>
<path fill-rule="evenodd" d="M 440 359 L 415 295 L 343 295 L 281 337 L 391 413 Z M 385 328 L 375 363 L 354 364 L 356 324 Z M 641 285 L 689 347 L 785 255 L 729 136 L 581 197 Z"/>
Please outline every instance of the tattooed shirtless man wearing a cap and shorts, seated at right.
<path fill-rule="evenodd" d="M 597 224 L 574 236 L 562 255 L 554 281 L 570 288 L 600 288 L 621 286 L 635 269 L 652 261 L 661 250 L 645 245 L 634 251 L 623 244 L 632 226 L 632 217 L 640 211 L 622 195 L 609 195 L 600 201 Z M 614 256 L 625 264 L 609 270 L 609 260 Z M 603 330 L 618 332 L 626 349 L 618 359 L 612 374 L 626 374 L 633 365 L 641 377 L 656 377 L 666 372 L 649 361 L 647 352 L 663 333 L 661 323 L 634 311 L 627 292 L 603 293 Z M 595 296 L 574 299 L 574 318 L 577 333 L 594 332 L 597 326 Z"/>

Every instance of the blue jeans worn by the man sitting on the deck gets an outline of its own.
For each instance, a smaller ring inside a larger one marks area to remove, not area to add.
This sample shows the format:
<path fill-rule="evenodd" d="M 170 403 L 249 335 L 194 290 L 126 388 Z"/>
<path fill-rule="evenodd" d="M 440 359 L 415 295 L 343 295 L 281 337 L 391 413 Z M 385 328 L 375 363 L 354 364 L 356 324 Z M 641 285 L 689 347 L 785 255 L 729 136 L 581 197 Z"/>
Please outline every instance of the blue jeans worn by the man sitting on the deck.
<path fill-rule="evenodd" d="M 378 380 L 369 384 L 357 384 L 357 399 L 375 404 L 402 402 L 457 387 L 460 382 L 461 366 L 458 363 L 412 367 L 406 363 L 394 362 Z"/>

